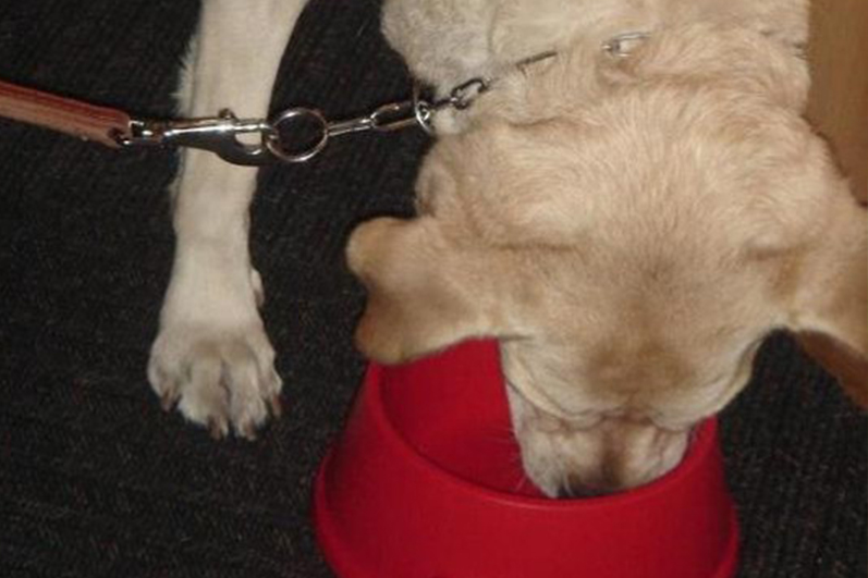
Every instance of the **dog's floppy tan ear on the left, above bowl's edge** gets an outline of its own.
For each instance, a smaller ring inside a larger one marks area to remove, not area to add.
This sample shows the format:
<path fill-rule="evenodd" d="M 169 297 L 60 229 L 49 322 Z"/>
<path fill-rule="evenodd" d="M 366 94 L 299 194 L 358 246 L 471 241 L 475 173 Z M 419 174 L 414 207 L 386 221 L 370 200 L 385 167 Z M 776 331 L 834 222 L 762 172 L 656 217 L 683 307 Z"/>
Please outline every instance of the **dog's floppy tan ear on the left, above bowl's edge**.
<path fill-rule="evenodd" d="M 347 261 L 368 290 L 356 345 L 378 361 L 511 331 L 489 274 L 497 263 L 451 244 L 431 217 L 363 223 L 350 238 Z"/>

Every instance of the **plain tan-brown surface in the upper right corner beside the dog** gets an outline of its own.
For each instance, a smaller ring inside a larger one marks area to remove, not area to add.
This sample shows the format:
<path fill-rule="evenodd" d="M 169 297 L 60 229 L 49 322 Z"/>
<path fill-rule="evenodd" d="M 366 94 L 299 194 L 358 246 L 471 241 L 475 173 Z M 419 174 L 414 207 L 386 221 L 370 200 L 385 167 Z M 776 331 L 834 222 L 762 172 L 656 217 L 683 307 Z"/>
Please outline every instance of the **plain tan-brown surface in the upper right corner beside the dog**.
<path fill-rule="evenodd" d="M 757 0 L 762 1 L 762 0 Z M 814 0 L 808 118 L 868 200 L 868 0 Z"/>

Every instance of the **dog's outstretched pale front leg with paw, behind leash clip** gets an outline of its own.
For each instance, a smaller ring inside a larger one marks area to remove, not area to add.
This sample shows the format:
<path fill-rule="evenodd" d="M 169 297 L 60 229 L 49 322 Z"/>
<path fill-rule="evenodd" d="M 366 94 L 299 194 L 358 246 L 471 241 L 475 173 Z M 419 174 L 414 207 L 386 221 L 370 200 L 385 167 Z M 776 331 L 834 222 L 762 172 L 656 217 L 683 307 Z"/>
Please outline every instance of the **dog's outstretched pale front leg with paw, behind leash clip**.
<path fill-rule="evenodd" d="M 262 118 L 305 0 L 204 0 L 179 93 L 181 112 Z M 257 310 L 262 287 L 248 254 L 252 168 L 183 152 L 174 184 L 176 248 L 148 379 L 169 408 L 216 436 L 253 438 L 277 413 L 281 380 Z"/>

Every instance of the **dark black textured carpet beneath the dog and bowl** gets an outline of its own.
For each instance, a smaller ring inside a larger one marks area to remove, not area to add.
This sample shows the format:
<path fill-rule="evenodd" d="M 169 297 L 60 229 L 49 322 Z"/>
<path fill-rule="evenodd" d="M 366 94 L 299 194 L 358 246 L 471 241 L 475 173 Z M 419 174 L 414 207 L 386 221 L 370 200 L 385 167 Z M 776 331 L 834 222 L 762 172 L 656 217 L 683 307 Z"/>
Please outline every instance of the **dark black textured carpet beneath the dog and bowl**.
<path fill-rule="evenodd" d="M 0 78 L 168 115 L 197 4 L 3 0 Z M 276 106 L 344 114 L 403 97 L 377 11 L 316 1 Z M 358 220 L 408 212 L 425 147 L 415 132 L 360 136 L 262 174 L 253 254 L 288 410 L 256 443 L 215 443 L 145 380 L 174 157 L 0 122 L 0 576 L 330 576 L 310 481 L 364 367 L 342 246 Z M 864 577 L 866 419 L 788 337 L 762 349 L 723 432 L 741 576 Z"/>

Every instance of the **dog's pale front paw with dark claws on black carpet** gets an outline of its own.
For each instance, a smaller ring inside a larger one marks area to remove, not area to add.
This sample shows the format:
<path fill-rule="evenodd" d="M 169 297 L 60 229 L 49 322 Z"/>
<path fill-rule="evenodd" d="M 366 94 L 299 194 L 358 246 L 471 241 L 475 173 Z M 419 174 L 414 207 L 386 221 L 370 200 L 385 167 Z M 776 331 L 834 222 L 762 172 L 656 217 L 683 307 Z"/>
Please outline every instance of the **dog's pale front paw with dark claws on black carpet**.
<path fill-rule="evenodd" d="M 269 413 L 280 415 L 282 385 L 274 349 L 256 310 L 261 300 L 258 275 L 252 275 L 249 284 L 235 285 L 243 291 L 203 292 L 196 288 L 200 283 L 179 279 L 172 285 L 151 347 L 148 381 L 164 409 L 176 405 L 215 438 L 231 428 L 254 439 Z M 215 293 L 220 298 L 215 299 Z"/>

